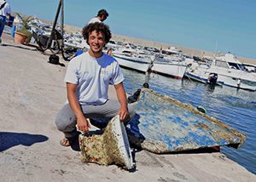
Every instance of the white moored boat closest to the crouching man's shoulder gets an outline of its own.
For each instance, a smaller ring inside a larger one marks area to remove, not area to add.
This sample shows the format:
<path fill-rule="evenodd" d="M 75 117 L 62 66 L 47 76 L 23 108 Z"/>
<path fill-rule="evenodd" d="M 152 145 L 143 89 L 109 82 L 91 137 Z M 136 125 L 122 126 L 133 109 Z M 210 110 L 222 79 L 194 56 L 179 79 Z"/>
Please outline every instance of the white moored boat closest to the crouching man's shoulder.
<path fill-rule="evenodd" d="M 114 51 L 113 57 L 121 67 L 131 70 L 147 72 L 152 67 L 152 60 L 149 55 L 139 54 L 137 50 L 131 48 Z"/>

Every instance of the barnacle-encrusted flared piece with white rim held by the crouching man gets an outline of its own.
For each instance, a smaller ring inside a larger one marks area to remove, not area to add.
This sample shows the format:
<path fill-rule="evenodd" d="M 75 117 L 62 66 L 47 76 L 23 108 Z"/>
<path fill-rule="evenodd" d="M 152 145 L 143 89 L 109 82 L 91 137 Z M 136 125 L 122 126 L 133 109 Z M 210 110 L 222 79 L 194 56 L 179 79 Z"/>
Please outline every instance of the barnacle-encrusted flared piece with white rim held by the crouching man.
<path fill-rule="evenodd" d="M 125 126 L 119 116 L 108 122 L 103 134 L 90 131 L 79 135 L 82 162 L 95 162 L 101 165 L 117 164 L 122 168 L 133 168 L 131 149 Z"/>

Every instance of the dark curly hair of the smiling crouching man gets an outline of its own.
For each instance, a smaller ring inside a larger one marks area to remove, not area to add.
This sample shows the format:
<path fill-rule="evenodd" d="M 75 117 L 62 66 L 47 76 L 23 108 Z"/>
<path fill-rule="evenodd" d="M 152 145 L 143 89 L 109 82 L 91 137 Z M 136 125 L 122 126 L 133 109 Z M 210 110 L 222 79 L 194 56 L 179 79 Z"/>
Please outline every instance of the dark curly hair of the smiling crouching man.
<path fill-rule="evenodd" d="M 102 32 L 106 43 L 108 43 L 110 38 L 112 37 L 111 31 L 109 30 L 109 26 L 99 22 L 90 23 L 89 25 L 84 26 L 82 31 L 82 35 L 84 37 L 84 40 L 86 40 L 86 43 L 88 43 L 89 35 L 92 31 Z"/>

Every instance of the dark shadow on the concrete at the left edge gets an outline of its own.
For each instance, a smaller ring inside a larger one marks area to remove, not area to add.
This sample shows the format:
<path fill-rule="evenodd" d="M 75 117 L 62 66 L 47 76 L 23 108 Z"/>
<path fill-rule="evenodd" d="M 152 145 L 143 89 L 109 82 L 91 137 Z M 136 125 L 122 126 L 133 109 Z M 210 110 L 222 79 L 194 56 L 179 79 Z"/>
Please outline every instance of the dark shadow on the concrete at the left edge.
<path fill-rule="evenodd" d="M 48 139 L 48 137 L 41 134 L 0 132 L 0 151 L 8 150 L 16 145 L 30 146 Z"/>

